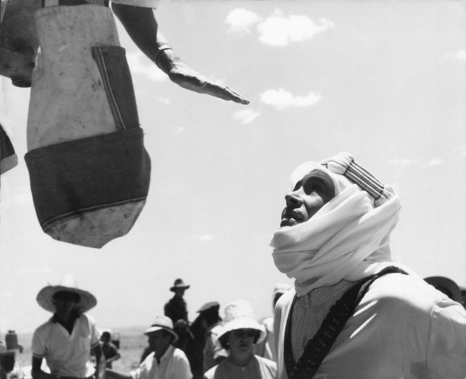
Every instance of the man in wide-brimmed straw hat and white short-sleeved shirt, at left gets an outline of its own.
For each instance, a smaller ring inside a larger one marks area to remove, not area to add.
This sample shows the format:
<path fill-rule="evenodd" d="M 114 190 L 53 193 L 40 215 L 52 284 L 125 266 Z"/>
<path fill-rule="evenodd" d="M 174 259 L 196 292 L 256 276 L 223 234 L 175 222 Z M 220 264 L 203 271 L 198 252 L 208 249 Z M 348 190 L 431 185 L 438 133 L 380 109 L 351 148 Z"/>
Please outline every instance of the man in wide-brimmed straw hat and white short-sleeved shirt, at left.
<path fill-rule="evenodd" d="M 85 314 L 97 304 L 96 297 L 79 289 L 68 275 L 59 285 L 47 285 L 37 295 L 39 305 L 53 313 L 32 337 L 32 378 L 93 378 L 105 370 L 105 359 L 99 334 L 92 316 Z M 91 363 L 91 350 L 96 356 L 98 373 Z M 46 360 L 51 373 L 41 370 Z"/>

